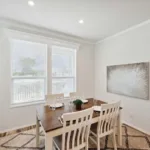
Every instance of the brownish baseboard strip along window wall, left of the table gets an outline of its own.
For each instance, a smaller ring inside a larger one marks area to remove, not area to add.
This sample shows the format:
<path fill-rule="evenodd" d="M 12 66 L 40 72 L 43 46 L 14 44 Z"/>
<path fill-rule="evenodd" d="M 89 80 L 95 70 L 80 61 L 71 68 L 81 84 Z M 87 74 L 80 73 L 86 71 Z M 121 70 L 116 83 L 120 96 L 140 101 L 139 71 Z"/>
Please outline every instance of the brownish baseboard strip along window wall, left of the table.
<path fill-rule="evenodd" d="M 26 125 L 26 126 L 23 126 L 23 127 L 18 127 L 18 128 L 15 128 L 15 129 L 3 131 L 3 132 L 0 132 L 0 138 L 8 136 L 8 135 L 12 135 L 12 134 L 20 133 L 20 132 L 23 132 L 23 131 L 31 130 L 31 129 L 34 129 L 35 127 L 36 127 L 36 125 L 32 124 L 32 125 Z"/>

